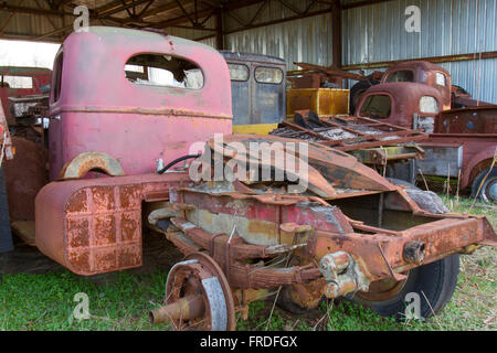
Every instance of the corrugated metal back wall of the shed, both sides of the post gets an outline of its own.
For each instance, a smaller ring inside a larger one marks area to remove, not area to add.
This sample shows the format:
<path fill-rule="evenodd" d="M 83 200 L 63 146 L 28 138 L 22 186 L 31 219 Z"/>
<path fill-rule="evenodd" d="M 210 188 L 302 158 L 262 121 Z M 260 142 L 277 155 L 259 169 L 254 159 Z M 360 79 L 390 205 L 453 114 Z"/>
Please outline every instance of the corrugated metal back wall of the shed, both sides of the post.
<path fill-rule="evenodd" d="M 353 1 L 342 1 L 351 3 Z M 309 1 L 286 1 L 304 9 Z M 421 33 L 405 31 L 409 6 L 421 10 Z M 324 9 L 316 7 L 314 10 Z M 250 20 L 258 10 L 240 10 L 237 19 Z M 254 22 L 295 15 L 278 1 L 269 1 Z M 225 20 L 230 31 L 240 26 Z M 204 41 L 213 45 L 212 40 Z M 283 57 L 288 69 L 293 62 L 318 65 L 332 63 L 331 14 L 325 13 L 290 22 L 235 32 L 225 36 L 232 51 Z M 396 0 L 342 11 L 342 64 L 360 64 L 416 57 L 497 51 L 497 0 Z M 497 101 L 497 60 L 444 63 L 453 83 L 482 100 Z M 369 71 L 371 72 L 371 71 Z"/>

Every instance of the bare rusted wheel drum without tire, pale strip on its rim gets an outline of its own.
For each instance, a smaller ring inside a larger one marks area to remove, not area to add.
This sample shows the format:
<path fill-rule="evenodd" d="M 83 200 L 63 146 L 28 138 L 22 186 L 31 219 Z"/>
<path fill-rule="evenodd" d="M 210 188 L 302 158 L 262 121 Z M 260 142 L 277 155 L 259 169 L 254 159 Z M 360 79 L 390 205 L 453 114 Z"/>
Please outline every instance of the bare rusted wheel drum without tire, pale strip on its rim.
<path fill-rule="evenodd" d="M 218 264 L 202 253 L 188 255 L 183 261 L 171 269 L 166 285 L 166 303 L 198 295 L 203 298 L 205 308 L 203 314 L 192 320 L 173 320 L 175 330 L 232 331 L 235 329 L 234 301 L 228 280 Z M 223 304 L 221 308 L 220 303 Z M 220 313 L 220 310 L 225 310 L 225 313 Z M 220 323 L 220 315 L 222 323 Z"/>

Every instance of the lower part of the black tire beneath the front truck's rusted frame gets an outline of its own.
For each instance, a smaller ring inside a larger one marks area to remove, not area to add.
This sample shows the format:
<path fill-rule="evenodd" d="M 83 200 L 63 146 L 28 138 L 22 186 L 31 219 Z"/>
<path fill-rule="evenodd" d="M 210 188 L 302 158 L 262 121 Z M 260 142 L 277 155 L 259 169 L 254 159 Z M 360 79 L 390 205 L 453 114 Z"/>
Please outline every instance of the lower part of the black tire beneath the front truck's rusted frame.
<path fill-rule="evenodd" d="M 405 296 L 413 292 L 420 298 L 420 315 L 430 318 L 433 313 L 438 313 L 451 300 L 458 274 L 459 255 L 452 255 L 410 270 L 402 289 L 391 298 L 374 301 L 356 293 L 351 301 L 368 307 L 382 317 L 393 315 L 402 320 L 405 318 L 408 304 Z"/>

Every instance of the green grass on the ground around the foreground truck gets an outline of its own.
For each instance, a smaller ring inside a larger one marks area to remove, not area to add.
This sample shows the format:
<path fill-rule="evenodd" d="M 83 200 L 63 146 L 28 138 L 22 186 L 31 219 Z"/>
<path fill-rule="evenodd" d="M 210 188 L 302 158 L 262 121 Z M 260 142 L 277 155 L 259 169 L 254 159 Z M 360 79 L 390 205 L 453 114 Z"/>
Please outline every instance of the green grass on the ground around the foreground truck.
<path fill-rule="evenodd" d="M 444 200 L 455 212 L 467 212 L 472 201 Z M 476 204 L 472 214 L 485 215 L 497 228 L 495 206 Z M 497 250 L 477 249 L 461 257 L 461 274 L 451 302 L 427 321 L 395 322 L 346 301 L 324 302 L 309 314 L 296 317 L 272 302 L 250 306 L 248 320 L 237 314 L 239 330 L 496 330 Z M 97 285 L 92 279 L 61 270 L 43 275 L 3 275 L 0 285 L 0 330 L 168 330 L 151 325 L 147 314 L 160 304 L 167 270 L 149 275 L 113 274 Z M 89 320 L 73 315 L 77 292 L 89 299 Z"/>

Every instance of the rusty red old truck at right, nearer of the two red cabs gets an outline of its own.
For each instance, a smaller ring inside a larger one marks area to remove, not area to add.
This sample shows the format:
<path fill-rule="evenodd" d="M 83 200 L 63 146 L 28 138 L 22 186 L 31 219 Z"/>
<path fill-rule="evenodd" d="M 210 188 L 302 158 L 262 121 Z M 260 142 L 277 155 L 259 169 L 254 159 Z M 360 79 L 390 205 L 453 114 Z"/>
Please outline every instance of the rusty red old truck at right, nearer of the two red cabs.
<path fill-rule="evenodd" d="M 429 138 L 420 143 L 426 158 L 416 161 L 417 168 L 425 175 L 459 179 L 461 189 L 472 188 L 478 173 L 490 167 L 495 154 L 497 108 L 443 110 L 443 100 L 430 85 L 384 83 L 363 94 L 356 116 L 429 132 Z"/>

